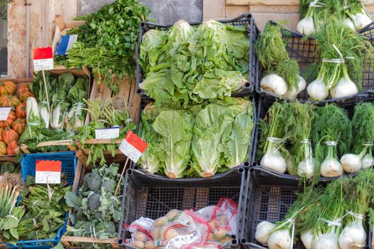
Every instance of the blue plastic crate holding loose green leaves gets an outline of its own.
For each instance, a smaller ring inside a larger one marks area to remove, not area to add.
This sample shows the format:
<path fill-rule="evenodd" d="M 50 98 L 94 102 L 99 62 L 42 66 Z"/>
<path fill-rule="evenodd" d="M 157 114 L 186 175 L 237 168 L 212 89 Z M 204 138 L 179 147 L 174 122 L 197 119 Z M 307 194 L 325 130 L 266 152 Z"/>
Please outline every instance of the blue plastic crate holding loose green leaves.
<path fill-rule="evenodd" d="M 21 174 L 22 180 L 26 181 L 26 176 L 35 176 L 35 164 L 38 160 L 58 160 L 62 162 L 61 173 L 66 174 L 68 185 L 73 185 L 76 173 L 77 158 L 76 152 L 53 152 L 53 153 L 38 153 L 38 154 L 24 154 L 21 160 Z M 66 233 L 66 223 L 68 221 L 68 213 L 64 225 L 58 229 L 55 238 L 46 240 L 20 240 L 17 245 L 10 245 L 0 243 L 0 248 L 33 248 L 33 249 L 49 249 L 53 248 L 61 240 L 61 237 Z"/>

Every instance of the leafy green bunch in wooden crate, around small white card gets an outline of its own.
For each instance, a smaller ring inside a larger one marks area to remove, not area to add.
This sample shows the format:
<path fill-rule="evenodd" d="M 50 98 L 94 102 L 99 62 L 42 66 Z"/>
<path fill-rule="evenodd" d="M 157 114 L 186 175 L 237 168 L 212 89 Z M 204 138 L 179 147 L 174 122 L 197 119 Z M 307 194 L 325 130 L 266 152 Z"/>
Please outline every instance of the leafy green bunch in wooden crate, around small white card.
<path fill-rule="evenodd" d="M 86 139 L 95 139 L 95 129 L 120 127 L 120 137 L 125 137 L 127 132 L 135 129 L 135 124 L 130 118 L 128 107 L 124 111 L 117 110 L 112 98 L 102 102 L 100 98 L 87 101 L 87 110 L 90 115 L 90 124 L 78 128 L 74 137 L 81 144 L 83 149 L 88 149 L 87 164 L 95 164 L 100 159 L 100 165 L 105 164 L 104 152 L 108 151 L 115 156 L 115 139 L 111 144 L 86 144 Z"/>

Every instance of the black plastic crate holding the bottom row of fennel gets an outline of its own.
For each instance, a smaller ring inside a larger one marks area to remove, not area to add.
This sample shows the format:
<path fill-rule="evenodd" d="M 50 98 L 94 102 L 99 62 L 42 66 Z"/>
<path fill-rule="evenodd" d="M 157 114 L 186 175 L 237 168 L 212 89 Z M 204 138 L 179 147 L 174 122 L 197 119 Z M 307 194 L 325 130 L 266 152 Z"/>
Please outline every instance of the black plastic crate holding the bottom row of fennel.
<path fill-rule="evenodd" d="M 261 221 L 272 223 L 281 221 L 296 200 L 296 191 L 301 190 L 302 187 L 296 181 L 269 176 L 264 169 L 258 167 L 249 169 L 246 177 L 246 195 L 244 195 L 246 200 L 241 201 L 245 206 L 240 236 L 241 245 L 244 248 L 264 248 L 264 245 L 254 238 L 256 226 Z M 367 235 L 365 248 L 371 248 L 371 229 Z M 294 248 L 305 248 L 300 238 Z"/>

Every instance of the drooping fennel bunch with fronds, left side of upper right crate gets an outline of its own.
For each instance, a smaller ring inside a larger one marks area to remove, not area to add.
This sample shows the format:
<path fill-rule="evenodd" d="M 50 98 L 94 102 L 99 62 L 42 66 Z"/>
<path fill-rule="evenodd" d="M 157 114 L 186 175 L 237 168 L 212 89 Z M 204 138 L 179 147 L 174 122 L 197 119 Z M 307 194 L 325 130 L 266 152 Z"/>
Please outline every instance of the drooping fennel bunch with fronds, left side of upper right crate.
<path fill-rule="evenodd" d="M 264 68 L 265 76 L 260 82 L 262 89 L 292 99 L 306 88 L 296 60 L 289 58 L 286 51 L 280 26 L 266 23 L 254 49 Z"/>

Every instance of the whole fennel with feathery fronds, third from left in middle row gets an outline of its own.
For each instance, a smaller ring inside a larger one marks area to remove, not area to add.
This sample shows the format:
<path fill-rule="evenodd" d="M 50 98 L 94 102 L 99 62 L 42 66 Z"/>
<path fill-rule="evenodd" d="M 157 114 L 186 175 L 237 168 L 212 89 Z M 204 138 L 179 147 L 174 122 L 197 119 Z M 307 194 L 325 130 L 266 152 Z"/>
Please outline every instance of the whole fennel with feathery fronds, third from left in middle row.
<path fill-rule="evenodd" d="M 326 104 L 318 108 L 314 115 L 311 134 L 320 174 L 326 177 L 341 176 L 343 167 L 337 159 L 338 154 L 346 154 L 353 140 L 348 114 L 335 104 Z"/>

